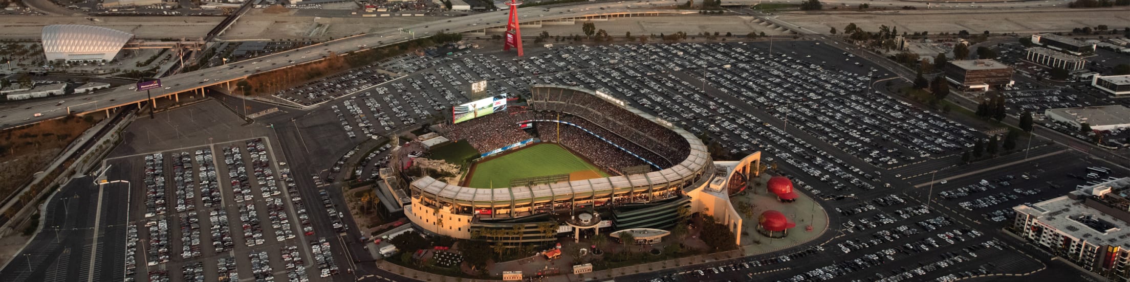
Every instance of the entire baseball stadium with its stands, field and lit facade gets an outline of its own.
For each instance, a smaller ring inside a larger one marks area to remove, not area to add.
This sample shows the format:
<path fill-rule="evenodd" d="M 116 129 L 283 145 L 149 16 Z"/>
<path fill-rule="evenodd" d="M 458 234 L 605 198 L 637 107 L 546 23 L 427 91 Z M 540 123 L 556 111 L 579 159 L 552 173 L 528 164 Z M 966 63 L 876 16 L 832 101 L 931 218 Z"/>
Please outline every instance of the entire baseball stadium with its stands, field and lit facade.
<path fill-rule="evenodd" d="M 703 212 L 740 241 L 741 217 L 729 195 L 756 177 L 759 152 L 715 162 L 694 134 L 610 95 L 553 85 L 530 92 L 525 105 L 442 126 L 440 133 L 455 140 L 445 146 L 477 158 L 457 179 L 409 179 L 405 214 L 412 223 L 454 238 L 518 245 L 669 229 Z M 492 232 L 515 228 L 521 236 Z"/>

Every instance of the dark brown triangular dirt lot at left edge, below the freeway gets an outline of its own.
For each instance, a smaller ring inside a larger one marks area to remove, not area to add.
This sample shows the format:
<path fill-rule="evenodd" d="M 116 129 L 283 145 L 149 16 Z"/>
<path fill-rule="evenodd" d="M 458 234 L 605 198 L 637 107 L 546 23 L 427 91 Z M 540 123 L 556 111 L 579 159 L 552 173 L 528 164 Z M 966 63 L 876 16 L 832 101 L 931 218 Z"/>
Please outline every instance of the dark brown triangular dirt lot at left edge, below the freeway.
<path fill-rule="evenodd" d="M 25 127 L 0 132 L 0 199 L 23 187 L 32 176 L 43 170 L 67 144 L 97 123 L 90 120 L 63 117 Z"/>

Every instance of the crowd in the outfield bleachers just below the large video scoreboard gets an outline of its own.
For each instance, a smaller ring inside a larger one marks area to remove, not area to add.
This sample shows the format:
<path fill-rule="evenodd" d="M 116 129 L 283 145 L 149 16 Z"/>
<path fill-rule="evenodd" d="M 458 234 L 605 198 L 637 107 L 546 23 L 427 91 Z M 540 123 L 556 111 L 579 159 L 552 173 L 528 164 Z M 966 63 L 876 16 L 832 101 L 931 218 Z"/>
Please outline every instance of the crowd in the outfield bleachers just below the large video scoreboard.
<path fill-rule="evenodd" d="M 488 152 L 522 140 L 530 139 L 530 134 L 519 127 L 519 123 L 528 121 L 530 114 L 512 108 L 506 112 L 494 113 L 486 116 L 476 117 L 467 122 L 447 126 L 447 139 L 466 140 L 478 150 L 479 153 Z"/>

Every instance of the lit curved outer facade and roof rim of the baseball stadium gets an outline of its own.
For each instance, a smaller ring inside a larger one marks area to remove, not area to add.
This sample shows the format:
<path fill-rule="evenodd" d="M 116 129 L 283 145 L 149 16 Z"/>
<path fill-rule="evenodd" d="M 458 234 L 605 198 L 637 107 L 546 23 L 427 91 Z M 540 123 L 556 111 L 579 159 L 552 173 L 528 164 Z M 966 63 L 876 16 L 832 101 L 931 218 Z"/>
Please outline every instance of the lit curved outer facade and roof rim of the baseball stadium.
<path fill-rule="evenodd" d="M 729 227 L 740 243 L 742 220 L 729 195 L 759 173 L 760 152 L 738 161 L 712 161 L 694 134 L 611 96 L 548 85 L 532 86 L 531 94 L 528 109 L 542 118 L 584 120 L 633 142 L 631 148 L 649 151 L 631 156 L 663 159 L 649 161 L 653 171 L 505 188 L 464 187 L 423 176 L 408 185 L 405 214 L 412 223 L 433 233 L 513 246 L 554 241 L 558 235 L 670 229 L 701 212 Z M 583 222 L 580 214 L 588 214 Z"/>

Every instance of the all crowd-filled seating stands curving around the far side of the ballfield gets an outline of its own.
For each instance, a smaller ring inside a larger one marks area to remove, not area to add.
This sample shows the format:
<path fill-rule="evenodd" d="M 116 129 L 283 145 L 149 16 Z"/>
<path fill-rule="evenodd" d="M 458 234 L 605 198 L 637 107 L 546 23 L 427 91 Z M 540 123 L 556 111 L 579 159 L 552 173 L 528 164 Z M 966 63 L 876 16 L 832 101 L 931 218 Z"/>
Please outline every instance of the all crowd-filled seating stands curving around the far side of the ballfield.
<path fill-rule="evenodd" d="M 512 107 L 506 112 L 445 126 L 449 129 L 445 134 L 452 140 L 468 141 L 481 153 L 529 139 L 530 134 L 519 126 L 523 121 L 559 120 L 573 125 L 534 123 L 541 140 L 558 142 L 610 173 L 649 165 L 641 158 L 658 166 L 658 169 L 668 168 L 685 159 L 690 151 L 687 140 L 675 131 L 586 92 L 568 89 L 534 91 L 529 103 L 530 108 L 537 112 Z M 556 132 L 558 127 L 560 140 Z"/>

